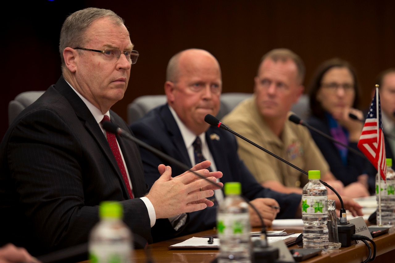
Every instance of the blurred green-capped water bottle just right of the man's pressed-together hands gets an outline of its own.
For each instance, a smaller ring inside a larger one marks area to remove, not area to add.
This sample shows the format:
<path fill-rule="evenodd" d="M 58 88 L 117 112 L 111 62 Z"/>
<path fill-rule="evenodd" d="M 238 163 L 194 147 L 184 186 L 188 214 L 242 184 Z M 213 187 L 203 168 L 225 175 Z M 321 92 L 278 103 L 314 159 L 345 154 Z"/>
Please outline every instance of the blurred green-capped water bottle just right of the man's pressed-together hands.
<path fill-rule="evenodd" d="M 220 238 L 218 263 L 251 262 L 251 224 L 248 204 L 240 196 L 239 182 L 226 182 L 226 197 L 219 204 L 217 232 Z"/>

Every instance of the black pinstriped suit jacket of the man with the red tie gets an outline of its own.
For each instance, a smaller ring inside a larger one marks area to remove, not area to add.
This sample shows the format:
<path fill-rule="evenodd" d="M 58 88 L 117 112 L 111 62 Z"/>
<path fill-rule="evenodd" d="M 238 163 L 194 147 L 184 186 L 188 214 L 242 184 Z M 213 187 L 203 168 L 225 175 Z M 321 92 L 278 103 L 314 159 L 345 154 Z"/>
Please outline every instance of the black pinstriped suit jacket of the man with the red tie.
<path fill-rule="evenodd" d="M 129 131 L 113 111 L 111 122 Z M 148 192 L 137 146 L 118 137 L 135 197 Z M 98 205 L 120 201 L 135 241 L 150 238 L 147 207 L 130 199 L 100 126 L 61 77 L 9 127 L 1 145 L 0 240 L 40 255 L 87 242 Z"/>

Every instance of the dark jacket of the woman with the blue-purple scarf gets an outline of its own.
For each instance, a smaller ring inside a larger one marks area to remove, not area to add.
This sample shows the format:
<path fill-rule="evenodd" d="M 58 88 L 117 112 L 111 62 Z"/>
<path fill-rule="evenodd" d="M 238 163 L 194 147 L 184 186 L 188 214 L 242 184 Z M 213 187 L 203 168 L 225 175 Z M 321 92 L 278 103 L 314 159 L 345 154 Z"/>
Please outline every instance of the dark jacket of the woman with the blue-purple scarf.
<path fill-rule="evenodd" d="M 312 127 L 331 136 L 326 119 L 321 120 L 317 117 L 312 116 L 307 120 L 307 122 Z M 337 150 L 335 143 L 314 131 L 311 132 L 311 136 L 314 139 L 318 148 L 320 148 L 322 154 L 325 157 L 325 160 L 328 162 L 333 175 L 335 175 L 337 179 L 342 181 L 345 186 L 352 182 L 355 182 L 359 175 L 368 173 L 367 167 L 370 162 L 367 159 L 362 158 L 361 156 L 358 156 L 357 154 L 349 151 L 347 155 L 347 165 L 345 166 L 342 163 L 339 151 Z M 359 151 L 357 143 L 349 143 L 348 146 Z M 371 175 L 369 176 L 371 177 Z M 372 181 L 369 180 L 369 183 L 371 184 Z M 373 190 L 374 184 L 369 185 L 369 188 Z"/>

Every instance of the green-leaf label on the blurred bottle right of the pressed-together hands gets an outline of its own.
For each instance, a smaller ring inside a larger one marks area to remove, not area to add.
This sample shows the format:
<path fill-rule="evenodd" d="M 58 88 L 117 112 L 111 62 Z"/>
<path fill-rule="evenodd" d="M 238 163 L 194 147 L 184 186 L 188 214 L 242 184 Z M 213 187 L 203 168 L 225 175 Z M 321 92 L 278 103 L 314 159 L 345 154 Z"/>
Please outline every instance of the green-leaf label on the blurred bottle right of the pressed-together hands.
<path fill-rule="evenodd" d="M 219 213 L 217 218 L 217 231 L 219 236 L 250 236 L 250 219 L 248 214 Z"/>

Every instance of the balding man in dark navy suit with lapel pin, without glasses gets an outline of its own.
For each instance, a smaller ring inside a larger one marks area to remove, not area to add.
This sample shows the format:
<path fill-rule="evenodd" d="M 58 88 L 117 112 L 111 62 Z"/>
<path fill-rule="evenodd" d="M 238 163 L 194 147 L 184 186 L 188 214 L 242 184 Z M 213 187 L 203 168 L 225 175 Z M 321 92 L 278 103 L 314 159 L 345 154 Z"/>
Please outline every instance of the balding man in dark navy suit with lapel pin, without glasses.
<path fill-rule="evenodd" d="M 221 90 L 220 66 L 214 56 L 200 49 L 182 51 L 173 56 L 167 66 L 167 105 L 152 110 L 130 128 L 137 138 L 189 166 L 196 162 L 193 142 L 198 137 L 203 156 L 212 163 L 211 169 L 222 171 L 223 183 L 241 182 L 242 194 L 252 200 L 265 225 L 271 225 L 277 213 L 277 218 L 300 216 L 301 195 L 287 195 L 263 188 L 239 159 L 235 137 L 227 131 L 210 127 L 204 121 L 205 115 L 215 116 L 218 113 Z M 142 148 L 140 151 L 145 178 L 151 186 L 159 177 L 155 167 L 166 162 Z M 215 198 L 223 198 L 221 190 L 215 193 Z M 280 210 L 273 208 L 278 205 Z M 213 228 L 215 209 L 216 205 L 190 213 L 190 222 L 179 235 Z M 253 226 L 261 225 L 252 209 L 250 221 Z M 155 242 L 170 237 L 171 233 L 153 235 Z"/>

